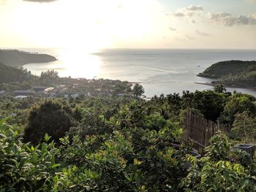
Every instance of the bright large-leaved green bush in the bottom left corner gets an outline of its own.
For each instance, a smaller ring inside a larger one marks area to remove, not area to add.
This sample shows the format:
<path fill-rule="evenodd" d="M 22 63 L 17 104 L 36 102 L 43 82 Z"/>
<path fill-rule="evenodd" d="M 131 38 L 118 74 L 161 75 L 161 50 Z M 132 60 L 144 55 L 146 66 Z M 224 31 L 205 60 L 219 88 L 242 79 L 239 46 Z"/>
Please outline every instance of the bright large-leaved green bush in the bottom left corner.
<path fill-rule="evenodd" d="M 56 175 L 54 143 L 33 147 L 24 144 L 20 134 L 0 122 L 1 191 L 50 191 Z M 46 135 L 46 140 L 49 137 Z"/>

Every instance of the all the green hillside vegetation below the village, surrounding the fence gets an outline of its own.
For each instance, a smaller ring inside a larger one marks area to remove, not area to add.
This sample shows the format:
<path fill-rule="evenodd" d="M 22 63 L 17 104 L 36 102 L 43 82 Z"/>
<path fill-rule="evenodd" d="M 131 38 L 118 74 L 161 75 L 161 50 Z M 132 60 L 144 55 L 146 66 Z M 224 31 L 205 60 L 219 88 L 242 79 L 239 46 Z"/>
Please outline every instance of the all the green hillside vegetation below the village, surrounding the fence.
<path fill-rule="evenodd" d="M 0 100 L 1 191 L 256 190 L 255 160 L 233 150 L 226 136 L 214 136 L 198 159 L 182 142 L 187 107 L 233 125 L 231 139 L 255 142 L 255 126 L 244 131 L 244 123 L 255 123 L 252 96 L 218 86 L 149 101 Z"/>

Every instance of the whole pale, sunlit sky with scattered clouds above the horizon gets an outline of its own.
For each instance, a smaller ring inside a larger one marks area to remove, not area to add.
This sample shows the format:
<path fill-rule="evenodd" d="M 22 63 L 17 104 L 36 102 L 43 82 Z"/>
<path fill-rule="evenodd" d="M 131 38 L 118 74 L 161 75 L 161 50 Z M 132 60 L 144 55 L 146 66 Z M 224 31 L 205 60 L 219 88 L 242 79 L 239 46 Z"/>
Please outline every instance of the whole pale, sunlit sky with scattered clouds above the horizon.
<path fill-rule="evenodd" d="M 0 47 L 256 49 L 256 0 L 0 0 Z"/>

